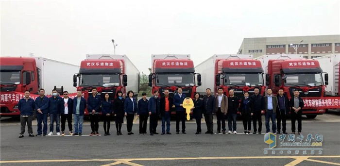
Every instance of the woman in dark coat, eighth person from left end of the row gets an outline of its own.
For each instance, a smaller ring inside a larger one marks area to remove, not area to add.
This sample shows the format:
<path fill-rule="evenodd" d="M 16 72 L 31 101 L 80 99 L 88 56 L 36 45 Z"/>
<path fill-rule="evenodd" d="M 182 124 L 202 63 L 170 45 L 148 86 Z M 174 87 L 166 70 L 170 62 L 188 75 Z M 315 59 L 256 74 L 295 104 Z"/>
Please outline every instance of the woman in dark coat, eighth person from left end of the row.
<path fill-rule="evenodd" d="M 117 135 L 122 135 L 121 124 L 124 123 L 124 101 L 123 92 L 117 92 L 117 98 L 113 100 L 113 114 L 116 116 Z"/>

